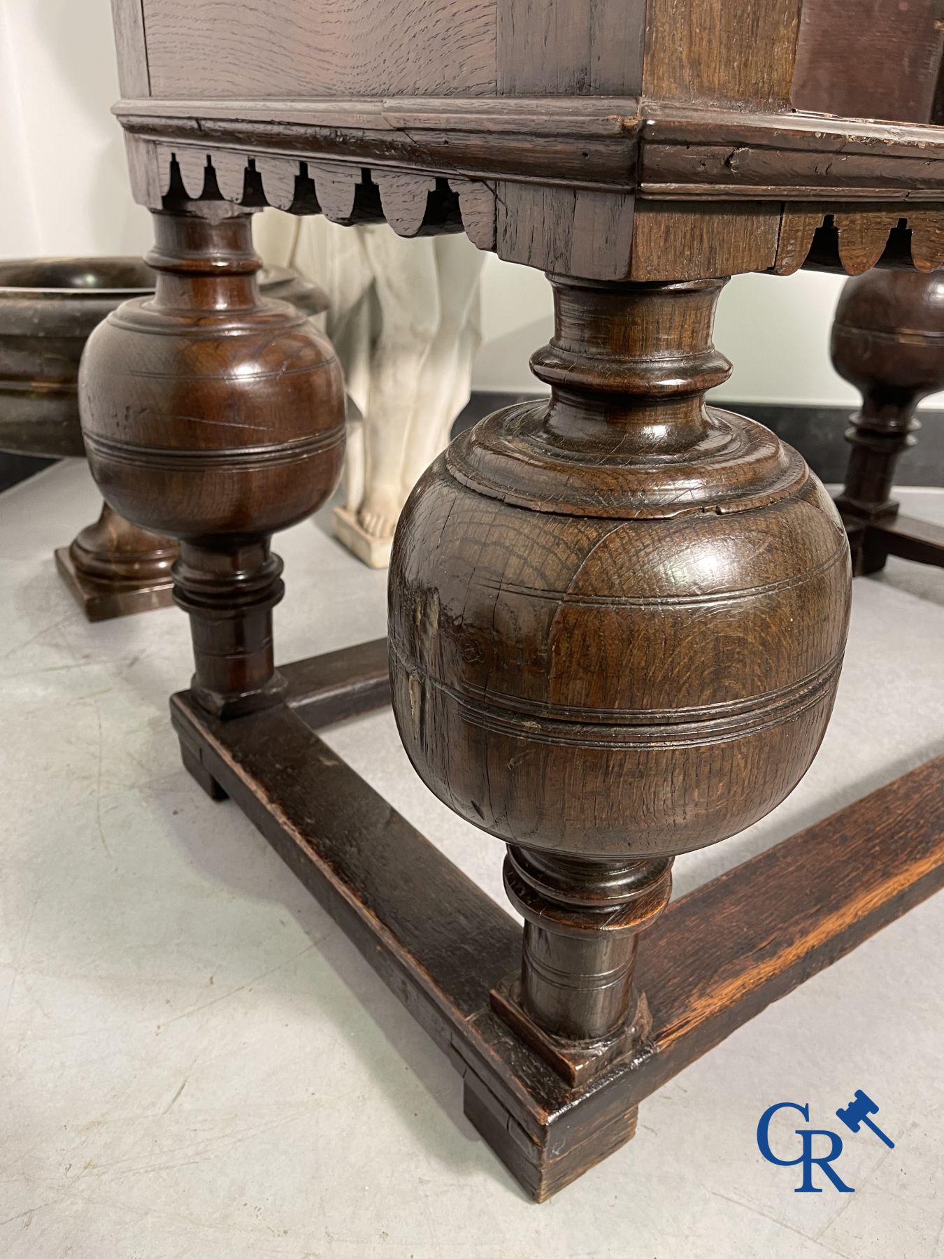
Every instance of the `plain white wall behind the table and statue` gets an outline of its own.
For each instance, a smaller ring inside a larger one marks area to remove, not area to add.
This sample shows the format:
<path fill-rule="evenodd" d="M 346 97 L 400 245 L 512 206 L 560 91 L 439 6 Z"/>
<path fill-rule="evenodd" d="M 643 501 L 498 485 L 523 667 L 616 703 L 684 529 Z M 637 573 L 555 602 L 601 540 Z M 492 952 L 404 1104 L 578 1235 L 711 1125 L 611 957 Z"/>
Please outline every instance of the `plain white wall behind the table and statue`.
<path fill-rule="evenodd" d="M 0 256 L 147 248 L 149 217 L 131 201 L 121 128 L 110 113 L 117 96 L 108 0 L 0 0 Z M 853 405 L 827 350 L 841 283 L 812 272 L 733 279 L 716 341 L 735 370 L 719 393 Z M 475 388 L 536 387 L 527 359 L 550 336 L 550 311 L 542 274 L 487 259 Z"/>

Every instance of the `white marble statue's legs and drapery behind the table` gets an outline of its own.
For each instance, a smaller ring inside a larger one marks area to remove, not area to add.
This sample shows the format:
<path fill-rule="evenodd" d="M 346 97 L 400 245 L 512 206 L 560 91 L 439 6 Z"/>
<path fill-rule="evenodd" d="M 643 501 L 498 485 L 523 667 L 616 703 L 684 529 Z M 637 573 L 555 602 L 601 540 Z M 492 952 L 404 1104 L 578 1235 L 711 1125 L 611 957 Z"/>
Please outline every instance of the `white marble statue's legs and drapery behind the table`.
<path fill-rule="evenodd" d="M 261 215 L 256 243 L 266 262 L 327 292 L 326 331 L 354 403 L 332 528 L 385 568 L 407 496 L 469 398 L 485 254 L 461 234 L 403 239 L 384 223 L 342 228 L 278 210 Z"/>

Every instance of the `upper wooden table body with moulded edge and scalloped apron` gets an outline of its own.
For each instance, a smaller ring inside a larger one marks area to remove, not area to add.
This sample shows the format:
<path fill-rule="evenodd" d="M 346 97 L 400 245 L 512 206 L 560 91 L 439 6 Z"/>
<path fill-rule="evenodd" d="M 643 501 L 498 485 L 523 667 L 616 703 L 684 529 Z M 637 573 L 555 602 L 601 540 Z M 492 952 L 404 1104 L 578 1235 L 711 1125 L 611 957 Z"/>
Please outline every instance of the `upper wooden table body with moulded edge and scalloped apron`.
<path fill-rule="evenodd" d="M 944 82 L 936 0 L 808 0 L 802 20 L 799 0 L 115 3 L 152 208 L 176 162 L 191 196 L 462 225 L 583 278 L 944 262 L 944 130 L 914 123 Z"/>

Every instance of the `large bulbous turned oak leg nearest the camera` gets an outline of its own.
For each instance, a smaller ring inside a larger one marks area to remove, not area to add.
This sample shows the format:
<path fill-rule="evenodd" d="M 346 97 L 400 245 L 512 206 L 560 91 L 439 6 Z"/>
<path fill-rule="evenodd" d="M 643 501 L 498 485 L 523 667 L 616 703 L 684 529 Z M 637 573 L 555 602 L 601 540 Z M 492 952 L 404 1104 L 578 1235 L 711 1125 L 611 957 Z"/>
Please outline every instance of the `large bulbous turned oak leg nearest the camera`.
<path fill-rule="evenodd" d="M 636 940 L 673 856 L 813 759 L 850 562 L 801 456 L 705 405 L 721 281 L 551 279 L 550 400 L 457 438 L 407 505 L 390 667 L 420 777 L 509 844 L 526 925 L 495 1008 L 576 1083 L 644 1035 Z"/>

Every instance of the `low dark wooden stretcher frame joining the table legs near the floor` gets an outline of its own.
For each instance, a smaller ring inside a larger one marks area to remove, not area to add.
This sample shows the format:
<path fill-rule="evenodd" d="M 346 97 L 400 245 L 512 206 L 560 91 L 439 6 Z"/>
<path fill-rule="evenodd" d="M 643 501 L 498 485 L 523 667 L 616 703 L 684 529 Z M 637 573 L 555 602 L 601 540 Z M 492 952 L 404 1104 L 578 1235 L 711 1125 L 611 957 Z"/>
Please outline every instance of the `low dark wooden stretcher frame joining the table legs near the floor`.
<path fill-rule="evenodd" d="M 230 721 L 175 695 L 184 764 L 258 827 L 447 1054 L 467 1117 L 536 1201 L 624 1144 L 649 1093 L 944 885 L 938 757 L 675 901 L 641 944 L 647 1035 L 568 1087 L 493 1008 L 520 966 L 514 919 L 318 738 L 388 703 L 386 641 L 282 672 L 283 705 Z"/>

